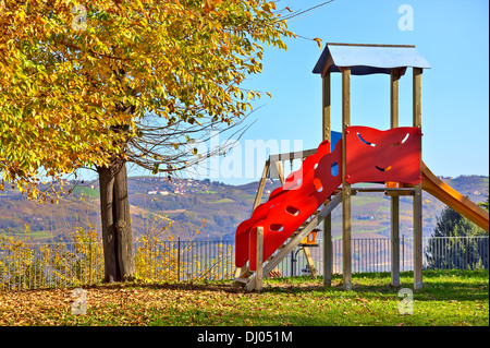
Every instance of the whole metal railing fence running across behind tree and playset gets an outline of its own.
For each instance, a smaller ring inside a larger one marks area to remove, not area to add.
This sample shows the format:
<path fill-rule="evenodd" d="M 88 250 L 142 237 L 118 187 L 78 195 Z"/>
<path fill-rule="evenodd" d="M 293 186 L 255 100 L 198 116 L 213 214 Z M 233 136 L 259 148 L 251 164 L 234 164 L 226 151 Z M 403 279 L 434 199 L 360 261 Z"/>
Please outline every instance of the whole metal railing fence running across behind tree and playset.
<path fill-rule="evenodd" d="M 310 248 L 323 274 L 322 240 Z M 413 269 L 413 239 L 400 239 L 400 268 Z M 333 273 L 342 273 L 342 240 L 333 240 Z M 424 238 L 424 267 L 488 269 L 489 239 L 483 237 Z M 146 241 L 134 244 L 136 276 L 149 281 L 225 280 L 234 275 L 234 241 Z M 279 265 L 282 276 L 309 274 L 301 248 Z M 354 273 L 390 272 L 391 239 L 352 239 Z M 101 242 L 0 245 L 0 290 L 73 287 L 103 279 Z"/>

